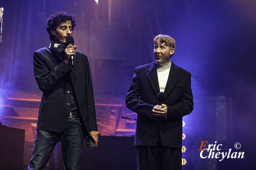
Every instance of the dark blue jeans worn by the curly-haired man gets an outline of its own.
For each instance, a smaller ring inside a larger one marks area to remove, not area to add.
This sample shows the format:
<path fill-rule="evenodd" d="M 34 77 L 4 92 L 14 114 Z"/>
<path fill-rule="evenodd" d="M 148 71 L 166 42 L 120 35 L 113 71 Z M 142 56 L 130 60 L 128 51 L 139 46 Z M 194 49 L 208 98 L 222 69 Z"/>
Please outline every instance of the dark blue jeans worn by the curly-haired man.
<path fill-rule="evenodd" d="M 69 118 L 65 130 L 61 133 L 38 130 L 28 170 L 43 170 L 58 141 L 61 141 L 65 170 L 79 170 L 83 140 L 80 118 Z"/>

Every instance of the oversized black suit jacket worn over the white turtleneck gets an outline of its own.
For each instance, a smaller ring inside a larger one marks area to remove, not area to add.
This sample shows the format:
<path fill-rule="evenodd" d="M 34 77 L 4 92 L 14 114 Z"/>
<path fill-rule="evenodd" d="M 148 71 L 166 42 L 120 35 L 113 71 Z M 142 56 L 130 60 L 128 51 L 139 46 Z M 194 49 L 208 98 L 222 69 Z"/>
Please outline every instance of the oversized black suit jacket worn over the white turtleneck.
<path fill-rule="evenodd" d="M 126 107 L 138 114 L 134 145 L 154 146 L 160 137 L 165 147 L 182 148 L 182 117 L 193 110 L 191 73 L 171 64 L 164 93 L 167 119 L 150 118 L 160 92 L 156 61 L 135 68 L 126 96 Z"/>

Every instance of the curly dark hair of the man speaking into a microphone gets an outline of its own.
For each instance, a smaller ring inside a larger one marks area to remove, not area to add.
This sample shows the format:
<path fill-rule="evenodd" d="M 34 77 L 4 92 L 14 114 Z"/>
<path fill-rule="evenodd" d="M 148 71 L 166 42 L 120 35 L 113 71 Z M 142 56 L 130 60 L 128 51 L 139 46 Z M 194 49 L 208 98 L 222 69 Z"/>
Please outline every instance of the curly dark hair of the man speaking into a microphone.
<path fill-rule="evenodd" d="M 46 22 L 46 31 L 49 33 L 50 40 L 54 40 L 54 35 L 52 35 L 51 31 L 56 31 L 58 25 L 62 22 L 70 20 L 72 23 L 72 30 L 76 27 L 76 19 L 74 15 L 69 14 L 64 11 L 56 11 L 52 14 Z"/>

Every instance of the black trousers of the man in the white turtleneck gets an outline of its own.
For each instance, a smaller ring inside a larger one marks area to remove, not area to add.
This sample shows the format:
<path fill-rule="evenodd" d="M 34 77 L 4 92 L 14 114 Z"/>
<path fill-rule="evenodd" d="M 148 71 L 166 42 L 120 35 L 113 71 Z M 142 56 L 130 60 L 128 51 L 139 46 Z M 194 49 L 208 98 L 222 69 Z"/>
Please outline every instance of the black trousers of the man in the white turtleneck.
<path fill-rule="evenodd" d="M 164 147 L 161 140 L 153 147 L 137 146 L 137 170 L 181 170 L 181 149 Z"/>

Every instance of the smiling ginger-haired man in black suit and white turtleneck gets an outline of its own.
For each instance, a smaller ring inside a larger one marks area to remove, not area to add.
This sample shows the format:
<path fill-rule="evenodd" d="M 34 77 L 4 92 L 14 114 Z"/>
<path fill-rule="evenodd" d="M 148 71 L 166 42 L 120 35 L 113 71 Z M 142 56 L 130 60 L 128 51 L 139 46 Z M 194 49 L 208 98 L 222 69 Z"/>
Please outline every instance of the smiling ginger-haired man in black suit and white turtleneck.
<path fill-rule="evenodd" d="M 182 117 L 192 112 L 191 73 L 170 58 L 176 49 L 168 35 L 154 38 L 155 61 L 135 68 L 126 107 L 138 114 L 134 145 L 138 170 L 182 169 Z M 158 93 L 165 93 L 158 106 Z"/>

